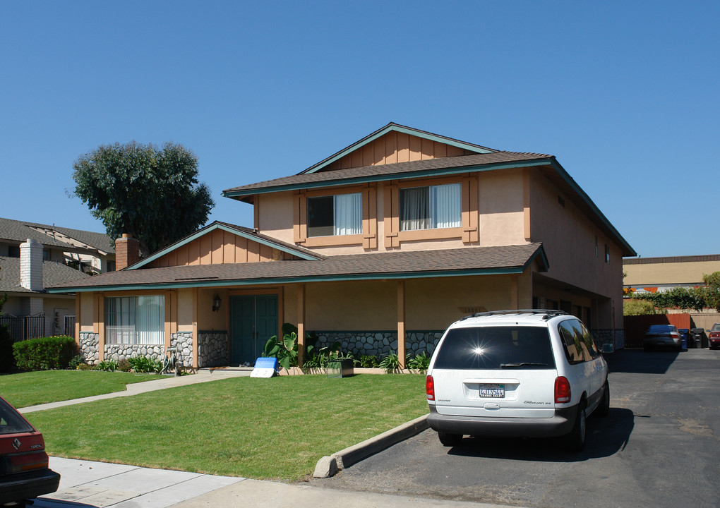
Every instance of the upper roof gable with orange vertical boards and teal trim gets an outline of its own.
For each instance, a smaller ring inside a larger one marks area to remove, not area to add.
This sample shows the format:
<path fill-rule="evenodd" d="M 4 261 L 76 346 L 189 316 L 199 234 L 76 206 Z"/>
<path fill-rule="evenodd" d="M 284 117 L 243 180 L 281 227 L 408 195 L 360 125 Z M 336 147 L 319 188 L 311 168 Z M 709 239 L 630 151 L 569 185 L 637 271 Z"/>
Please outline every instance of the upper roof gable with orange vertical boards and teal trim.
<path fill-rule="evenodd" d="M 298 174 L 495 151 L 497 150 L 390 122 L 382 129 Z"/>

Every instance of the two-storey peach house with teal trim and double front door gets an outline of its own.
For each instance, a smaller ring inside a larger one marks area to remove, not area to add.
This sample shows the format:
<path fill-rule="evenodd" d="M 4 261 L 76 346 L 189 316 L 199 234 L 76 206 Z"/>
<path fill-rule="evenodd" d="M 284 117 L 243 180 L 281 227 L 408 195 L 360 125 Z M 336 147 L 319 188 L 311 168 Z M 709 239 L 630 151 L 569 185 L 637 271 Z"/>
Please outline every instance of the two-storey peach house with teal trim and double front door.
<path fill-rule="evenodd" d="M 78 294 L 86 358 L 253 362 L 283 322 L 355 355 L 431 352 L 454 320 L 555 308 L 622 347 L 622 258 L 636 255 L 552 155 L 388 124 L 294 176 L 223 192 L 254 227 L 214 222 Z M 121 270 L 121 268 L 124 268 Z M 398 340 L 400 337 L 400 340 Z"/>

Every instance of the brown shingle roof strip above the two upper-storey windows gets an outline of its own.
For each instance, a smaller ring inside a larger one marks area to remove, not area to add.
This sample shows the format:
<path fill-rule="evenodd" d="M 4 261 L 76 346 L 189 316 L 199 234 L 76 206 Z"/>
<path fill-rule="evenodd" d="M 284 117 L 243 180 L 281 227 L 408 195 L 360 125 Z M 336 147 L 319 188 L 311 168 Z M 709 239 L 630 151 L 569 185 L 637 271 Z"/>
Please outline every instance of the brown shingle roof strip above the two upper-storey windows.
<path fill-rule="evenodd" d="M 517 153 L 517 152 L 495 152 L 479 153 L 477 155 L 459 155 L 457 157 L 443 157 L 427 160 L 414 160 L 383 165 L 367 165 L 361 168 L 338 169 L 336 171 L 323 171 L 319 173 L 301 173 L 299 175 L 275 178 L 274 180 L 249 183 L 232 189 L 225 189 L 223 193 L 240 193 L 242 195 L 253 194 L 253 191 L 270 191 L 287 186 L 307 186 L 310 184 L 326 183 L 328 186 L 345 183 L 347 180 L 359 178 L 372 178 L 381 176 L 397 176 L 398 178 L 410 178 L 418 173 L 433 170 L 468 168 L 478 165 L 489 165 L 499 163 L 526 162 L 528 160 L 553 158 L 552 155 L 541 153 Z"/>

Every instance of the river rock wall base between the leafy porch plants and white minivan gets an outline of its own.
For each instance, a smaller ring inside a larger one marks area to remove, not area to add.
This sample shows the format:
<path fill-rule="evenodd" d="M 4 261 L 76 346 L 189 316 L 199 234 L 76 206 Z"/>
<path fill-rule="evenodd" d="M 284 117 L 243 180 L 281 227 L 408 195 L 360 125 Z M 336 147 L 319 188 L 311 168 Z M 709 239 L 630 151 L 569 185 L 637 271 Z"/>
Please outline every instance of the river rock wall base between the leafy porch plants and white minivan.
<path fill-rule="evenodd" d="M 397 353 L 397 332 L 315 332 L 318 335 L 318 348 L 324 348 L 335 342 L 340 343 L 340 350 L 352 353 L 355 358 L 363 355 L 382 358 L 390 353 Z M 433 354 L 435 346 L 443 336 L 441 330 L 418 330 L 405 332 L 405 348 L 411 356 L 426 351 Z"/>

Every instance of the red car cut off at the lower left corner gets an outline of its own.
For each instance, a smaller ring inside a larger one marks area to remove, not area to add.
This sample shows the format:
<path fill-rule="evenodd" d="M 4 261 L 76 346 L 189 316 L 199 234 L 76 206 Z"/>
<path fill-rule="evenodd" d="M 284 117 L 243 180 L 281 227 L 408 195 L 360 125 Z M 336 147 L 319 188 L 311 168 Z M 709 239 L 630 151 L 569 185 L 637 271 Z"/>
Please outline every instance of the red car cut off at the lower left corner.
<path fill-rule="evenodd" d="M 0 507 L 24 507 L 26 499 L 55 492 L 58 484 L 42 434 L 0 397 Z"/>

